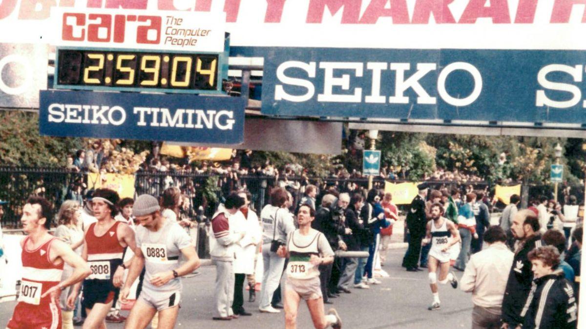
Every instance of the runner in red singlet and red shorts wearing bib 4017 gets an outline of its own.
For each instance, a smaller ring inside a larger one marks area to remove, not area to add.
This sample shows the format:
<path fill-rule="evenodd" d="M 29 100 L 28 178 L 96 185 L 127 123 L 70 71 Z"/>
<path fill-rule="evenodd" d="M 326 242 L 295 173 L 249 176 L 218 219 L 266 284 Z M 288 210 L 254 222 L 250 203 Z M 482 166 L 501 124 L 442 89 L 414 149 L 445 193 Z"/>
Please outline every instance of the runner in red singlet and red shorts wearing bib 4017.
<path fill-rule="evenodd" d="M 28 237 L 21 241 L 21 291 L 8 328 L 61 328 L 61 290 L 90 274 L 86 262 L 69 245 L 49 234 L 51 219 L 49 201 L 42 197 L 26 200 L 21 221 Z M 64 263 L 73 268 L 73 274 L 61 282 Z"/>

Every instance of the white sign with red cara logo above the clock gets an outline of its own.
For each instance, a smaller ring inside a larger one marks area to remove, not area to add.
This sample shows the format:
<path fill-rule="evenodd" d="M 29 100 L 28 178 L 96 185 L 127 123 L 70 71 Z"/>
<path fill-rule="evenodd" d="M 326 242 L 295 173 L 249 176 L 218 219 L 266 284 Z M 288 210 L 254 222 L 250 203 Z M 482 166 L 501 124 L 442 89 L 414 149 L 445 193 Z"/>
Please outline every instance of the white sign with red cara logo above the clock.
<path fill-rule="evenodd" d="M 59 46 L 223 52 L 222 13 L 54 9 Z"/>

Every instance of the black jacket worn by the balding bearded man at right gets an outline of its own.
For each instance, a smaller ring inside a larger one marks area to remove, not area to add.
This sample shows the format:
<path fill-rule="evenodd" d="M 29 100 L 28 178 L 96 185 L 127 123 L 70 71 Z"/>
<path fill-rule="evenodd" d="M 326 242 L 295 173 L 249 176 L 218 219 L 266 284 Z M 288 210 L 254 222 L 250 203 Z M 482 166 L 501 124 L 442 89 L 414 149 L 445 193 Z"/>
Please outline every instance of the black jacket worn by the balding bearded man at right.
<path fill-rule="evenodd" d="M 527 254 L 540 246 L 541 235 L 533 235 L 524 242 L 522 248 L 515 253 L 515 258 L 513 258 L 513 266 L 509 272 L 502 307 L 503 322 L 508 323 L 509 327 L 515 328 L 517 324 L 523 323 L 521 311 L 533 282 L 531 262 L 527 258 Z"/>

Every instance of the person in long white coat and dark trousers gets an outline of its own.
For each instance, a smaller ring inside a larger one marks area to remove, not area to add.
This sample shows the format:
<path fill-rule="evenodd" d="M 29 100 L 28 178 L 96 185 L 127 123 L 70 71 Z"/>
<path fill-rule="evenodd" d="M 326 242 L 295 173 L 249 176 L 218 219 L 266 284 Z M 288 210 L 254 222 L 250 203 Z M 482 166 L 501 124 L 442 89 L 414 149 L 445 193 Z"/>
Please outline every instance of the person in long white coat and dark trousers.
<path fill-rule="evenodd" d="M 244 206 L 236 215 L 230 217 L 230 230 L 246 232 L 244 238 L 236 245 L 236 258 L 233 262 L 234 269 L 234 301 L 232 311 L 240 316 L 250 316 L 251 314 L 244 310 L 244 279 L 247 275 L 254 273 L 254 259 L 256 257 L 257 245 L 262 238 L 258 216 L 254 211 L 248 208 L 250 204 L 250 194 L 246 191 L 240 191 L 239 197 L 244 198 Z M 234 225 L 234 226 L 233 226 Z M 254 287 L 251 287 L 254 289 Z"/>

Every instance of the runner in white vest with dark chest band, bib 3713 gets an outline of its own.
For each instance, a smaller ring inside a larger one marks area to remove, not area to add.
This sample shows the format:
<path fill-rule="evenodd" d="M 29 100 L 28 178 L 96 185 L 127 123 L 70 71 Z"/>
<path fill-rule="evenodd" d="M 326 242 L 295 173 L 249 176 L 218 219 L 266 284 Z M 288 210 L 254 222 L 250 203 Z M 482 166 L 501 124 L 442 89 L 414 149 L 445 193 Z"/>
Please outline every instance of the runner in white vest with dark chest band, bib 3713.
<path fill-rule="evenodd" d="M 318 266 L 333 262 L 333 251 L 322 232 L 311 228 L 315 210 L 301 205 L 297 213 L 299 228 L 287 236 L 287 245 L 277 254 L 289 258 L 285 284 L 285 328 L 297 327 L 299 301 L 304 299 L 315 328 L 342 328 L 342 320 L 335 309 L 323 312 L 323 296 Z"/>

